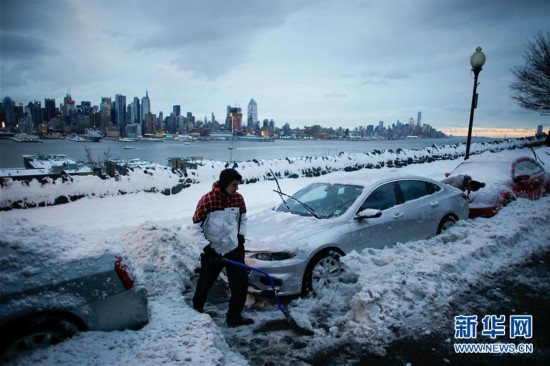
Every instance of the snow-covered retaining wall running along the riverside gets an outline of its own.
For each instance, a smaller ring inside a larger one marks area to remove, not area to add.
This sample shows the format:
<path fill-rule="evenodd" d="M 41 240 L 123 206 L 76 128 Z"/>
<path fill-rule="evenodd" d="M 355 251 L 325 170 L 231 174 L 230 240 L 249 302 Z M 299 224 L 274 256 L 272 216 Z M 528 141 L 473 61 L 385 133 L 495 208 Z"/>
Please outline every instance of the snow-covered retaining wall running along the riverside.
<path fill-rule="evenodd" d="M 444 140 L 442 140 L 444 141 Z M 473 143 L 470 153 L 497 152 L 530 146 L 541 141 L 533 138 L 510 139 L 489 143 Z M 356 171 L 402 167 L 435 160 L 458 159 L 465 155 L 466 145 L 443 145 L 421 150 L 373 150 L 365 153 L 339 153 L 329 156 L 303 156 L 274 160 L 251 160 L 227 163 L 206 160 L 196 170 L 184 175 L 168 167 L 135 168 L 127 175 L 100 179 L 97 176 L 72 176 L 72 179 L 46 179 L 37 181 L 4 181 L 0 188 L 0 210 L 33 208 L 69 203 L 84 197 L 106 197 L 137 192 L 177 194 L 200 181 L 215 181 L 221 170 L 232 167 L 243 176 L 245 184 L 277 178 L 321 176 L 335 171 Z M 526 155 L 530 152 L 526 151 Z"/>

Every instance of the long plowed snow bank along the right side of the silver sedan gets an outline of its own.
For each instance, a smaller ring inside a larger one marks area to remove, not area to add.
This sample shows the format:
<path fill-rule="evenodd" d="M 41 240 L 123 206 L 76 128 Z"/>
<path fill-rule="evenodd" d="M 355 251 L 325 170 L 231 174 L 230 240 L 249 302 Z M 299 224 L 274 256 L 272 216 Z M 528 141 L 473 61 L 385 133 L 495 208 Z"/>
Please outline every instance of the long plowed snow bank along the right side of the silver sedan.
<path fill-rule="evenodd" d="M 438 325 L 448 331 L 451 319 L 441 316 L 469 285 L 550 248 L 549 208 L 550 197 L 520 199 L 492 219 L 460 221 L 429 240 L 344 257 L 363 286 L 347 327 L 358 342 L 375 346 Z"/>

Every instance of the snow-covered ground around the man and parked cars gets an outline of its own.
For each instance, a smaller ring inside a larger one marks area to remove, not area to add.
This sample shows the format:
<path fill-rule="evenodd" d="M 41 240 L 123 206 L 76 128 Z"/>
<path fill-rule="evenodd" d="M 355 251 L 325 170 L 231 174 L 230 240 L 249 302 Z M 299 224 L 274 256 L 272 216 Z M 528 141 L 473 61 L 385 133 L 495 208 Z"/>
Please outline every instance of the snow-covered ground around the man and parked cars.
<path fill-rule="evenodd" d="M 548 170 L 550 149 L 537 151 Z M 508 153 L 532 156 L 527 149 Z M 441 180 L 459 162 L 435 161 L 399 170 Z M 280 184 L 284 192 L 293 193 L 316 180 L 337 181 L 353 174 L 338 171 L 322 177 L 282 179 Z M 246 170 L 243 176 L 247 178 Z M 93 242 L 119 240 L 142 267 L 149 293 L 150 323 L 143 329 L 80 333 L 16 364 L 300 364 L 323 350 L 349 343 L 364 344 L 383 355 L 384 347 L 396 339 L 451 327 L 444 316 L 457 294 L 482 283 L 488 274 L 550 248 L 550 197 L 536 202 L 520 199 L 493 218 L 458 222 L 429 240 L 344 257 L 348 273 L 354 275 L 321 296 L 289 303 L 293 317 L 314 330 L 313 337 L 227 328 L 223 316 L 227 303 L 208 304 L 213 316 L 198 314 L 189 304 L 199 251 L 187 226 L 199 197 L 214 179 L 203 177 L 200 183 L 170 196 L 140 192 L 1 212 L 2 227 L 14 222 L 26 227 L 45 225 L 50 229 L 34 233 L 50 235 L 54 230 L 56 238 L 67 240 L 68 245 L 75 235 L 93 236 Z M 250 225 L 254 225 L 254 213 L 279 203 L 272 191 L 275 188 L 272 181 L 241 185 Z M 250 297 L 248 306 L 248 314 L 257 323 L 282 318 L 271 301 Z"/>

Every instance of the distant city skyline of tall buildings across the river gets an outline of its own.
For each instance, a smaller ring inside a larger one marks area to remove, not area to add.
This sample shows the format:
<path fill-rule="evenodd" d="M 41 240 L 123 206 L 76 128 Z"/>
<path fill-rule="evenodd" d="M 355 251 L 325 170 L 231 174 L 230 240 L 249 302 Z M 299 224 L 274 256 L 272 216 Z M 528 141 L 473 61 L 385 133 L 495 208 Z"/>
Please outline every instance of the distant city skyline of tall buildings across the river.
<path fill-rule="evenodd" d="M 62 125 L 66 127 L 70 127 L 73 130 L 83 129 L 83 128 L 98 128 L 103 130 L 105 132 L 105 129 L 107 128 L 115 128 L 119 130 L 121 136 L 126 136 L 125 132 L 125 126 L 131 125 L 131 124 L 138 124 L 140 126 L 141 130 L 146 130 L 146 125 L 150 124 L 147 122 L 147 114 L 151 112 L 151 101 L 149 98 L 148 90 L 145 91 L 145 96 L 141 98 L 141 103 L 139 102 L 139 97 L 133 97 L 133 102 L 126 102 L 126 95 L 116 94 L 114 98 L 112 97 L 105 97 L 101 96 L 100 103 L 93 104 L 91 101 L 80 101 L 78 102 L 75 100 L 75 98 L 72 97 L 70 92 L 67 92 L 65 96 L 63 97 L 62 102 L 59 104 L 56 103 L 56 98 L 44 98 L 44 107 L 42 107 L 42 104 L 39 100 L 29 101 L 28 103 L 23 103 L 19 101 L 13 100 L 10 96 L 6 96 L 3 99 L 0 99 L 0 116 L 2 116 L 2 125 L 1 128 L 7 127 L 7 128 L 13 128 L 16 125 L 19 125 L 19 129 L 21 130 L 21 123 L 23 123 L 23 130 L 30 131 L 31 129 L 39 129 L 39 124 L 47 123 L 50 124 L 50 119 L 53 121 L 56 121 L 56 123 L 61 123 Z M 130 100 L 131 97 L 128 97 L 128 100 Z M 23 115 L 18 115 L 17 111 L 11 110 L 11 112 L 8 112 L 8 110 L 11 107 L 7 107 L 6 102 L 8 101 L 9 104 L 11 104 L 13 107 L 18 107 L 20 109 L 19 113 L 24 113 L 25 115 L 28 114 L 28 119 L 22 119 Z M 2 102 L 4 102 L 2 104 Z M 140 107 L 141 104 L 141 107 Z M 122 108 L 120 107 L 122 105 Z M 113 113 L 111 114 L 111 110 Z M 56 111 L 59 113 L 59 118 L 56 117 Z M 71 116 L 71 111 L 76 112 L 74 115 Z M 95 111 L 97 113 L 97 125 L 93 125 L 94 121 L 92 121 L 89 117 L 92 114 L 92 111 Z M 245 132 L 247 130 L 249 131 L 255 131 L 255 132 L 261 132 L 262 127 L 260 122 L 262 122 L 262 125 L 265 127 L 266 124 L 270 125 L 270 131 L 273 132 L 274 129 L 274 120 L 269 117 L 262 118 L 261 120 L 258 118 L 258 104 L 254 100 L 254 98 L 251 98 L 248 103 L 247 108 L 247 114 L 243 115 L 242 109 L 239 107 L 232 107 L 227 106 L 226 107 L 226 117 L 225 122 L 215 120 L 214 116 L 215 114 L 211 114 L 211 119 L 208 120 L 206 115 L 204 117 L 204 123 L 218 123 L 220 125 L 220 128 L 222 129 L 236 129 L 236 131 L 239 132 Z M 176 126 L 179 122 L 183 123 L 183 121 L 186 121 L 185 123 L 191 122 L 193 125 L 195 124 L 195 116 L 193 115 L 192 111 L 186 112 L 187 120 L 184 117 L 184 113 L 182 113 L 181 106 L 180 105 L 173 105 L 172 111 L 167 112 L 164 114 L 164 111 L 159 111 L 159 113 L 150 113 L 153 118 L 158 122 L 159 130 L 163 130 L 166 128 L 169 133 L 172 132 L 185 132 L 185 130 L 180 131 L 179 128 Z M 77 122 L 75 117 L 78 115 L 81 116 L 88 116 L 88 119 L 81 120 L 80 122 Z M 172 118 L 174 118 L 172 120 Z M 13 119 L 13 120 L 12 120 Z M 18 119 L 21 119 L 18 121 Z M 320 125 L 319 123 L 312 122 L 309 125 L 304 126 L 294 126 L 293 128 L 312 128 L 312 127 L 320 127 L 323 130 L 327 129 L 340 129 L 340 130 L 350 130 L 350 131 L 361 131 L 361 130 L 367 130 L 367 127 L 374 128 L 375 125 L 384 126 L 384 123 L 386 123 L 386 126 L 397 126 L 399 125 L 418 125 L 419 131 L 422 127 L 428 128 L 430 131 L 434 131 L 439 133 L 439 131 L 432 125 L 424 123 L 421 123 L 422 119 L 422 111 L 418 111 L 417 113 L 417 119 L 414 119 L 413 117 L 408 117 L 408 121 L 404 120 L 397 120 L 393 123 L 391 121 L 369 121 L 365 124 L 359 124 L 352 127 L 347 126 L 339 126 L 339 125 Z M 32 124 L 34 126 L 28 125 L 30 123 L 29 121 L 32 121 Z M 122 121 L 122 122 L 121 122 Z M 202 123 L 203 121 L 198 119 L 197 122 Z M 87 125 L 84 126 L 81 123 L 86 123 Z M 175 123 L 176 125 L 172 125 Z M 279 122 L 281 123 L 281 122 Z M 289 125 L 288 122 L 282 122 L 281 125 Z M 164 126 L 164 127 L 161 127 Z M 183 125 L 182 125 L 183 126 Z M 51 128 L 52 126 L 50 126 Z M 201 126 L 201 129 L 203 129 L 205 126 Z M 539 125 L 540 127 L 540 125 Z M 59 125 L 58 125 L 59 128 Z M 134 127 L 131 127 L 134 128 Z M 156 132 L 156 131 L 155 131 Z M 195 131 L 196 132 L 196 131 Z M 373 131 L 371 131 L 372 134 Z M 418 131 L 415 131 L 415 133 Z M 441 131 L 442 132 L 442 131 Z M 153 131 L 149 131 L 148 133 L 153 133 Z"/>

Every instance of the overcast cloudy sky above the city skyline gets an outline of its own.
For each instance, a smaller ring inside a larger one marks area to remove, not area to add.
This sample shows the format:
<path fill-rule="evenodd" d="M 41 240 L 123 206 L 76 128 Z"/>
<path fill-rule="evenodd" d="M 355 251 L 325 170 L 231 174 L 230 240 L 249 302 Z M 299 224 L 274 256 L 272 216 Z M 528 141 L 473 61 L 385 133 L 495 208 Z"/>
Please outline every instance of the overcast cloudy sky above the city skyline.
<path fill-rule="evenodd" d="M 0 3 L 0 95 L 16 103 L 59 105 L 67 90 L 77 103 L 115 94 L 129 103 L 147 89 L 165 116 L 179 104 L 224 120 L 227 105 L 246 114 L 254 98 L 277 126 L 353 128 L 422 111 L 423 122 L 464 135 L 469 59 L 481 46 L 479 135 L 550 127 L 508 88 L 527 41 L 550 30 L 547 0 Z"/>

